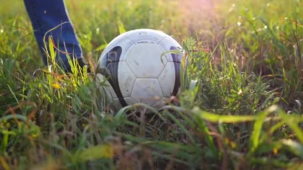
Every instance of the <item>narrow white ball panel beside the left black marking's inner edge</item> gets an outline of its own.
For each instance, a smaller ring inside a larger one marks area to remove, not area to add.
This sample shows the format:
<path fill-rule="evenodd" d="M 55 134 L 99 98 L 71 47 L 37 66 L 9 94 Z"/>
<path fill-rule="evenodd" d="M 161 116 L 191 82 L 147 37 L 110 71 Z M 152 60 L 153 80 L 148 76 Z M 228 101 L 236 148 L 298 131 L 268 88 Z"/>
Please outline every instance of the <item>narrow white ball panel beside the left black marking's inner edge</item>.
<path fill-rule="evenodd" d="M 136 82 L 136 76 L 125 61 L 119 62 L 118 82 L 123 97 L 130 96 Z"/>

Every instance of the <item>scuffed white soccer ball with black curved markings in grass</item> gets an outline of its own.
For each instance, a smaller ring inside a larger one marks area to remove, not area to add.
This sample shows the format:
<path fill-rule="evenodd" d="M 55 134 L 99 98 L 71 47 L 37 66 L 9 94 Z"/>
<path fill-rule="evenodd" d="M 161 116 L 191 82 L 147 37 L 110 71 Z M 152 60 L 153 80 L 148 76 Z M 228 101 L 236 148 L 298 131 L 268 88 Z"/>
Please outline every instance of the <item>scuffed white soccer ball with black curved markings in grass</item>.
<path fill-rule="evenodd" d="M 106 81 L 104 91 L 116 109 L 135 103 L 160 108 L 178 94 L 182 53 L 180 44 L 161 31 L 129 31 L 104 49 L 96 80 Z"/>

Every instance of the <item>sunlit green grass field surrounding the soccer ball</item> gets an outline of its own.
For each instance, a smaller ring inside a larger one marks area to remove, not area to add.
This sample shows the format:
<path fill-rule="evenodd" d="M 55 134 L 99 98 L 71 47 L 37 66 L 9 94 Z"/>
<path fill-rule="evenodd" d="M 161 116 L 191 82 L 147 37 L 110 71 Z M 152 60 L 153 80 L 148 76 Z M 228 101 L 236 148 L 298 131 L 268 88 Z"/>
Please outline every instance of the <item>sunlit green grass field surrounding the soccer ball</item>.
<path fill-rule="evenodd" d="M 115 112 L 94 75 L 43 66 L 22 0 L 0 0 L 1 169 L 303 168 L 302 0 L 66 2 L 92 66 L 123 30 L 181 42 L 178 105 Z"/>

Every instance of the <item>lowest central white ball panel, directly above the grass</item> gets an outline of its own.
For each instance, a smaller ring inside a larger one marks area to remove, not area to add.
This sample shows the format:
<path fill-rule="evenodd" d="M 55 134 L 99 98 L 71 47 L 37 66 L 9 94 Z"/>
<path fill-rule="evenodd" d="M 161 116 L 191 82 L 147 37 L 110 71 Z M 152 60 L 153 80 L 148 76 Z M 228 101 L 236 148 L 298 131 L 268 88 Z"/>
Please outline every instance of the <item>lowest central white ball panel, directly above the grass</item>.
<path fill-rule="evenodd" d="M 157 79 L 137 79 L 131 97 L 139 102 L 153 105 L 162 98 L 162 90 Z"/>

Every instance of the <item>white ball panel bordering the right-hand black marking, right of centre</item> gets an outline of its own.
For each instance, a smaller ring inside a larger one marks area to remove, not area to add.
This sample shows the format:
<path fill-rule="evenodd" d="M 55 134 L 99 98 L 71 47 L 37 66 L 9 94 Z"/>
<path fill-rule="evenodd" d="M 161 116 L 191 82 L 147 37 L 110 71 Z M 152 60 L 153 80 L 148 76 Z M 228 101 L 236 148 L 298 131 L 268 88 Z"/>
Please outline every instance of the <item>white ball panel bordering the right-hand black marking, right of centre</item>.
<path fill-rule="evenodd" d="M 172 94 L 174 83 L 175 83 L 174 63 L 172 63 L 172 62 L 166 63 L 158 80 L 159 80 L 161 89 L 163 91 L 163 96 L 170 97 Z"/>

